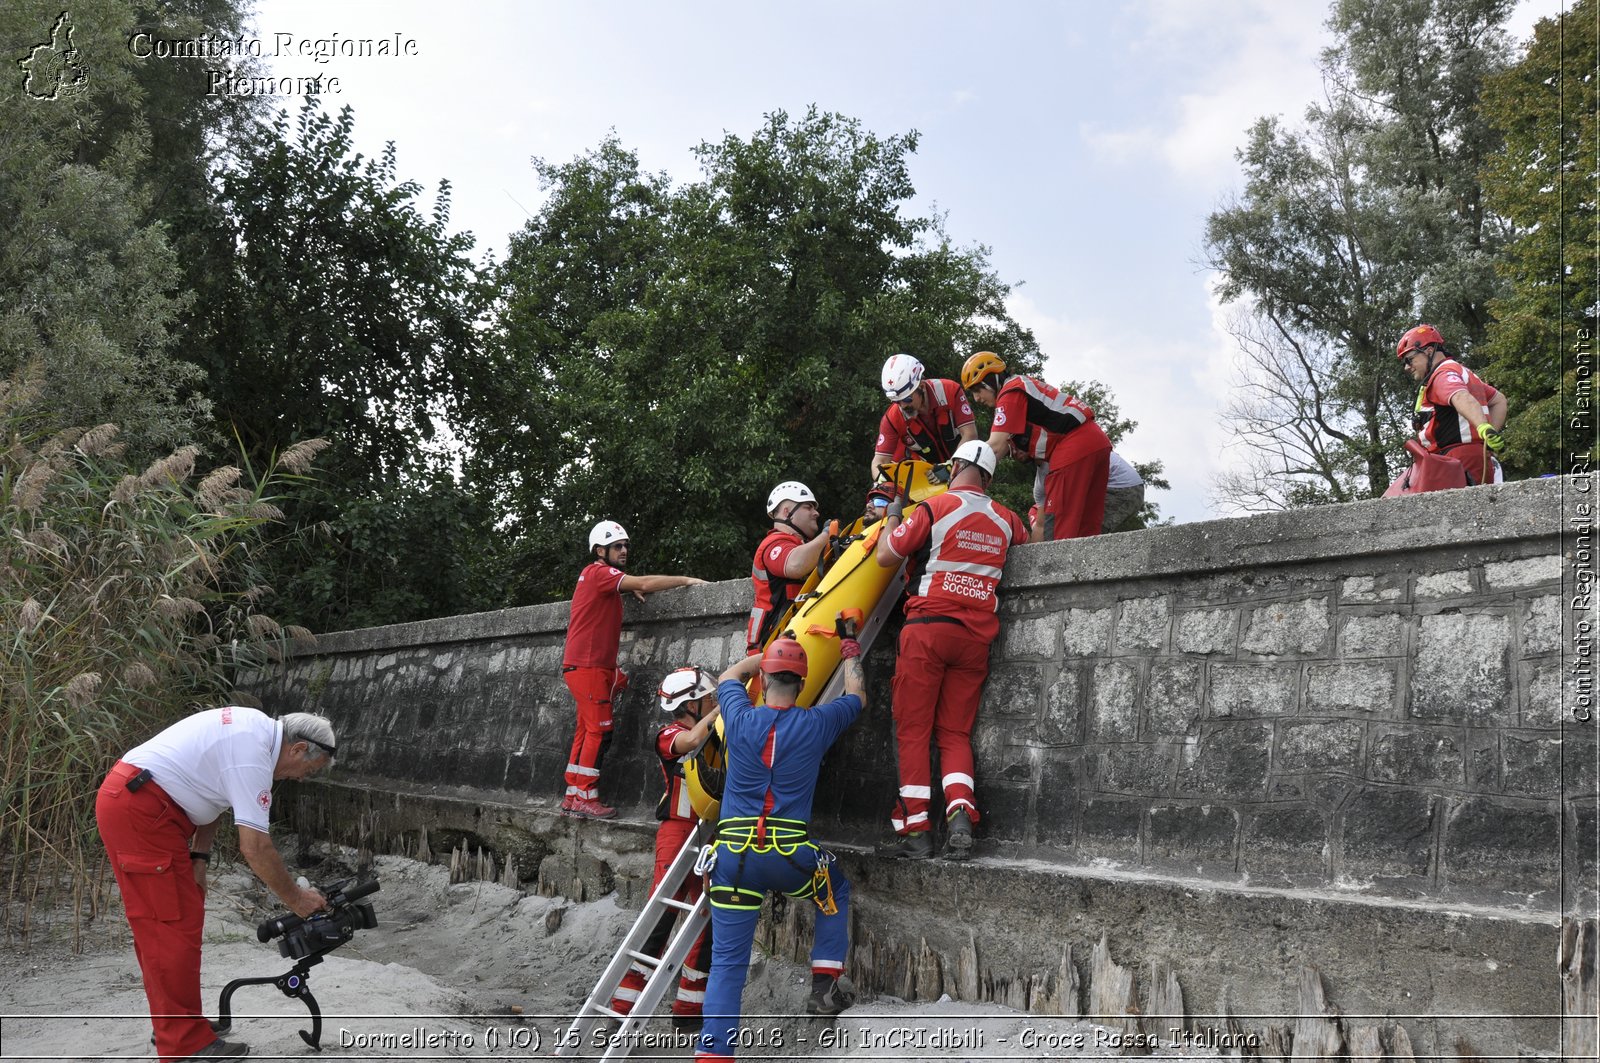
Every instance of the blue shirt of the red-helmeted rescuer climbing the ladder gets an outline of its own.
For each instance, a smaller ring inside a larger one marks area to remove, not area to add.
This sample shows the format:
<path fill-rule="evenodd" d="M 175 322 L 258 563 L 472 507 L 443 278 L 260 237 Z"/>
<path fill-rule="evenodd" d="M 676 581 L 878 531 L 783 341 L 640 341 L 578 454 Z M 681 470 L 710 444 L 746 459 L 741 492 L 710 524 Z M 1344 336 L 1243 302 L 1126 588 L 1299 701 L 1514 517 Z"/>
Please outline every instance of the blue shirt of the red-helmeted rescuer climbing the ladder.
<path fill-rule="evenodd" d="M 755 818 L 773 794 L 766 815 L 776 820 L 811 821 L 816 773 L 829 746 L 861 716 L 861 698 L 846 693 L 826 704 L 803 709 L 774 709 L 750 704 L 744 685 L 731 679 L 717 687 L 722 706 L 723 741 L 728 748 L 728 778 L 722 791 L 722 818 Z M 762 751 L 773 740 L 773 765 Z"/>

